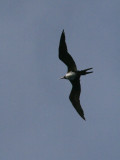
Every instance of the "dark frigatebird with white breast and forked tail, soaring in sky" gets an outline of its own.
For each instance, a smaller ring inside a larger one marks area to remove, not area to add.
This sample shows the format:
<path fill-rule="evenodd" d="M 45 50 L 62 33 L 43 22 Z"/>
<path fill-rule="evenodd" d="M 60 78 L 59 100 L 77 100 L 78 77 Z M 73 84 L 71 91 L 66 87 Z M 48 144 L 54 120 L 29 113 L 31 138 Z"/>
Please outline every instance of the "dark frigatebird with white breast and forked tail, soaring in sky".
<path fill-rule="evenodd" d="M 58 57 L 67 66 L 68 69 L 65 76 L 61 77 L 60 79 L 69 80 L 70 83 L 72 84 L 72 90 L 69 95 L 69 100 L 71 101 L 73 107 L 78 112 L 78 114 L 83 118 L 83 120 L 86 120 L 84 116 L 84 111 L 80 104 L 80 93 L 81 93 L 80 77 L 82 75 L 93 73 L 93 71 L 91 71 L 91 69 L 93 68 L 77 70 L 75 61 L 73 60 L 72 56 L 68 53 L 64 30 L 62 31 L 60 37 Z"/>

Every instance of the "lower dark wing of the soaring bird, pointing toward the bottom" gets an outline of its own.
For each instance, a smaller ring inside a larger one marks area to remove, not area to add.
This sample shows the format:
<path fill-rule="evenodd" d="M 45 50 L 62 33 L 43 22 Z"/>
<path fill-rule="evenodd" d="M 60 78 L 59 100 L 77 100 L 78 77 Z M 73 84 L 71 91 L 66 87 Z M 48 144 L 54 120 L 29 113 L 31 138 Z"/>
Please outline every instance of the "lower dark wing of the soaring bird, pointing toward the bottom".
<path fill-rule="evenodd" d="M 75 81 L 71 81 L 71 83 L 72 83 L 72 90 L 69 99 L 73 104 L 74 108 L 76 109 L 76 111 L 78 112 L 78 114 L 85 120 L 84 111 L 80 105 L 80 100 L 79 100 L 81 92 L 80 81 L 79 79 L 77 79 Z"/>

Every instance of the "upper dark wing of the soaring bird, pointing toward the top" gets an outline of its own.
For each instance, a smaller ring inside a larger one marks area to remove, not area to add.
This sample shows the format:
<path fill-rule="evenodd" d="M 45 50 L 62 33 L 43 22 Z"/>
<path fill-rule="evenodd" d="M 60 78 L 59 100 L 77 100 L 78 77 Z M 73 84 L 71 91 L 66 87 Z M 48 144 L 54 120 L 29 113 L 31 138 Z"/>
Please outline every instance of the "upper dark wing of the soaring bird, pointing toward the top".
<path fill-rule="evenodd" d="M 61 38 L 60 38 L 59 59 L 61 61 L 63 61 L 67 65 L 68 72 L 69 71 L 76 71 L 77 70 L 76 64 L 75 64 L 72 56 L 67 51 L 67 45 L 66 45 L 66 42 L 65 42 L 65 33 L 64 33 L 64 30 L 63 30 L 63 32 L 61 34 Z"/>

